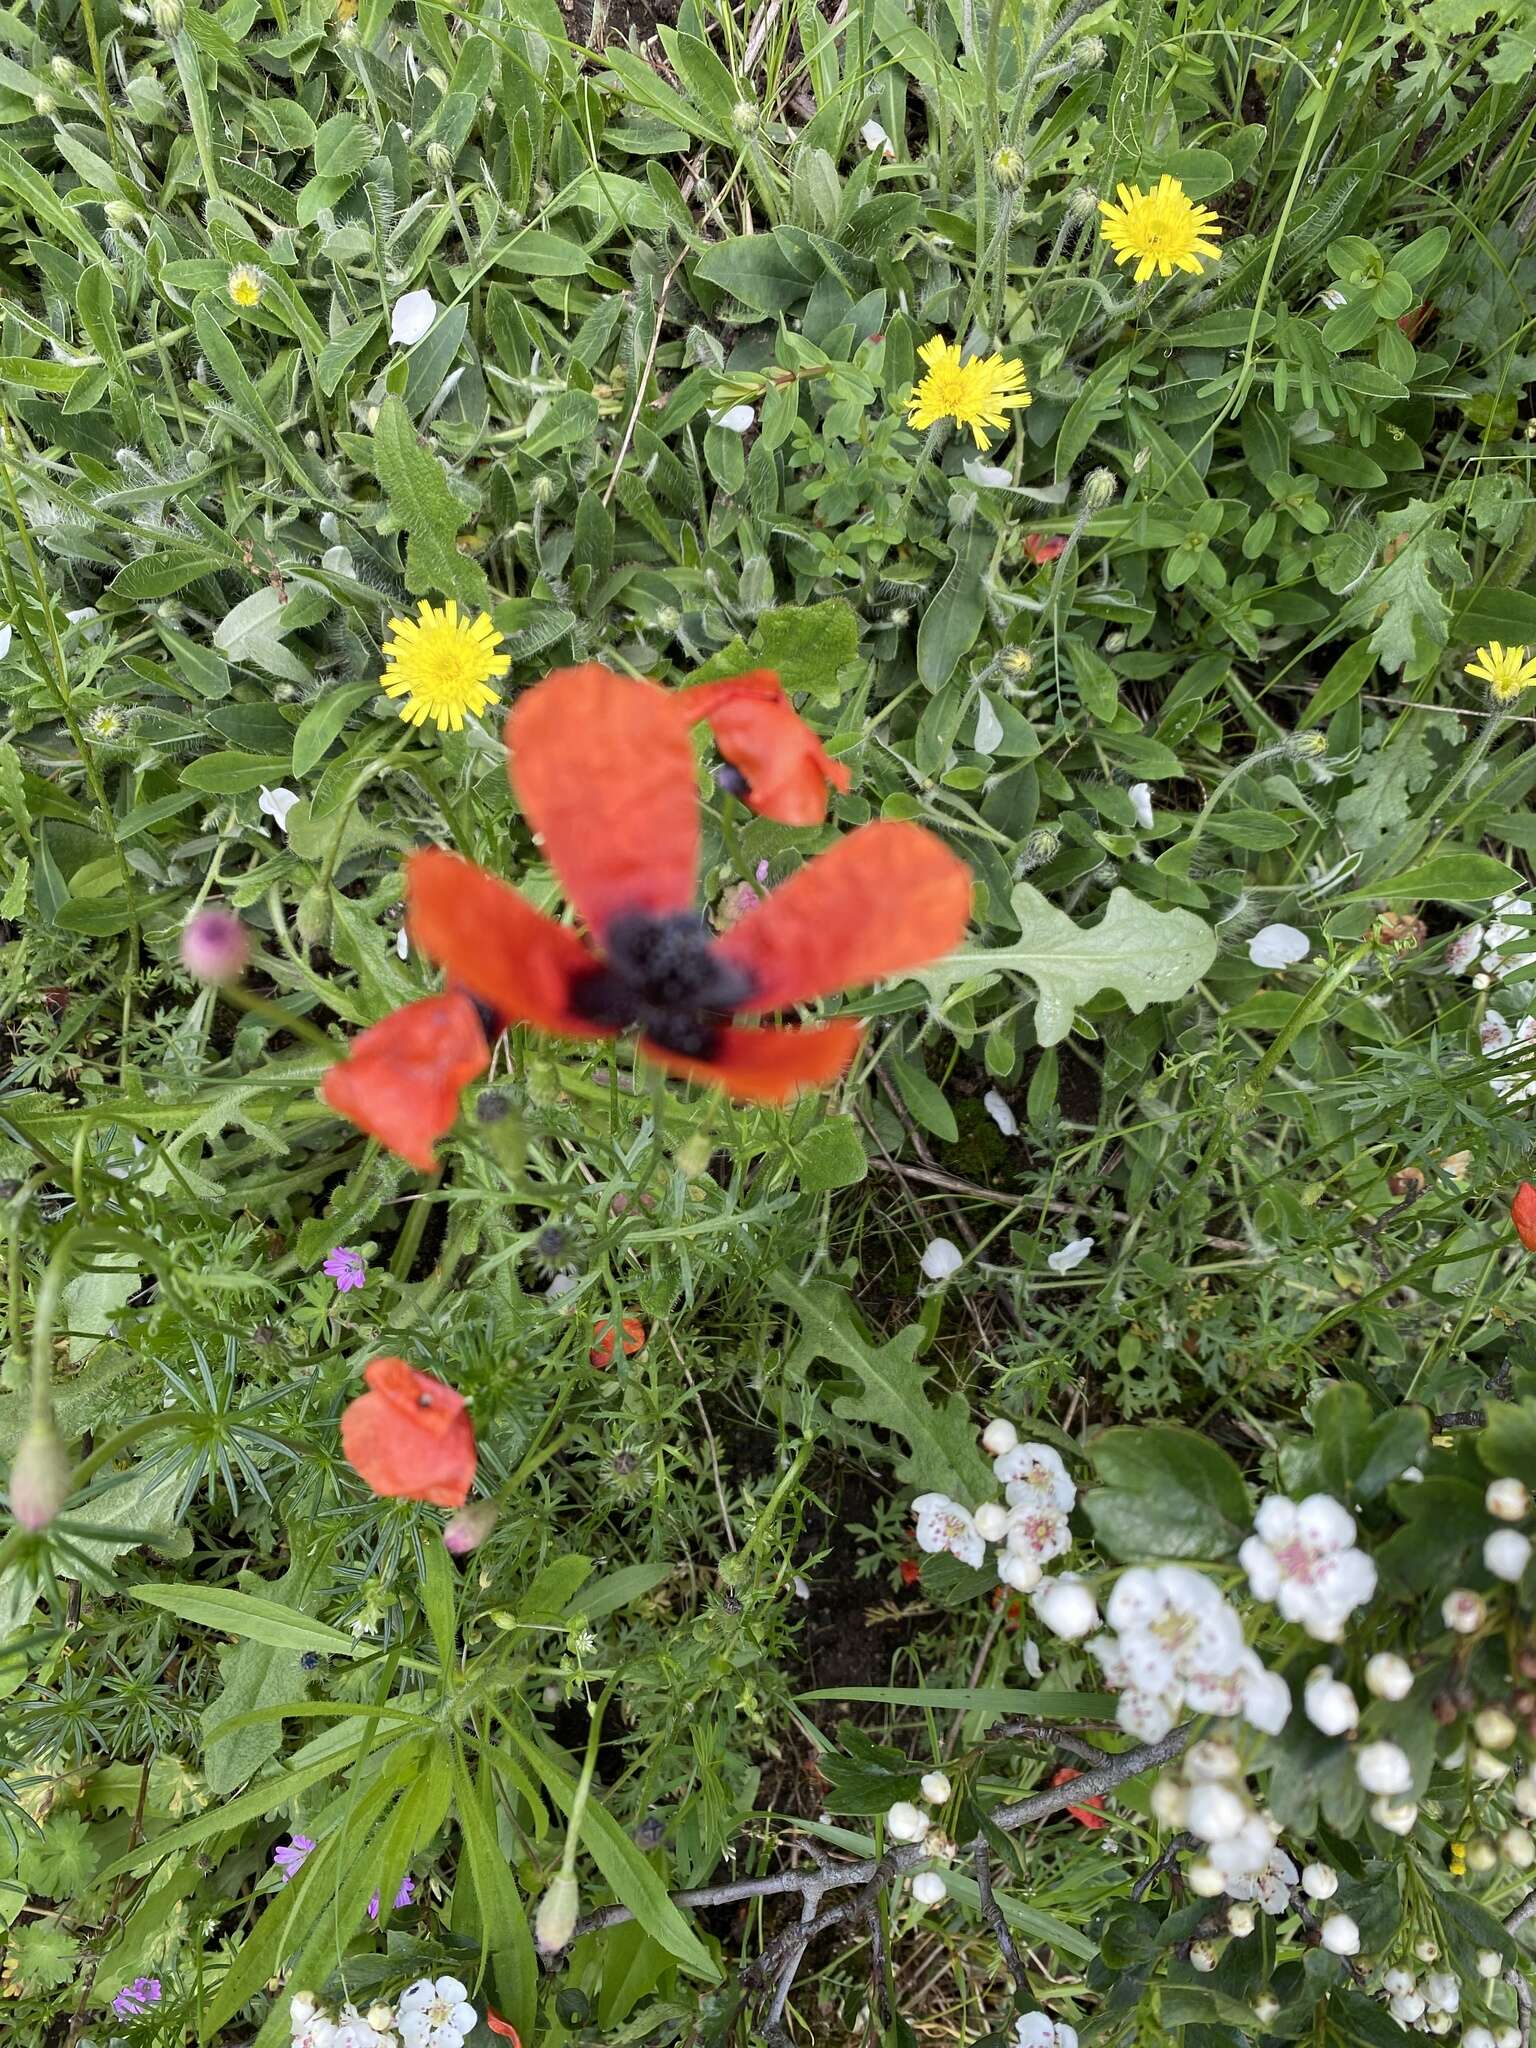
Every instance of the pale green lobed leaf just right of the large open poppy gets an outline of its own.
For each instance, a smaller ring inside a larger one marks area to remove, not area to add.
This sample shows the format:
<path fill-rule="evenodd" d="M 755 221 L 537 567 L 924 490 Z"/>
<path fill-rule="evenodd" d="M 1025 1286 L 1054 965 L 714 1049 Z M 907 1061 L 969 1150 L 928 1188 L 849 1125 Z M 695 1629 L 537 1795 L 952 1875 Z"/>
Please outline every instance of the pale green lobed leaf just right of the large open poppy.
<path fill-rule="evenodd" d="M 1083 930 L 1020 883 L 1012 897 L 1018 938 L 1010 946 L 956 952 L 913 975 L 934 999 L 961 985 L 987 985 L 997 975 L 1026 975 L 1036 991 L 1034 1034 L 1059 1044 L 1079 1004 L 1104 989 L 1124 995 L 1133 1012 L 1171 1004 L 1208 973 L 1217 934 L 1188 909 L 1153 909 L 1128 889 L 1112 889 L 1092 930 Z"/>

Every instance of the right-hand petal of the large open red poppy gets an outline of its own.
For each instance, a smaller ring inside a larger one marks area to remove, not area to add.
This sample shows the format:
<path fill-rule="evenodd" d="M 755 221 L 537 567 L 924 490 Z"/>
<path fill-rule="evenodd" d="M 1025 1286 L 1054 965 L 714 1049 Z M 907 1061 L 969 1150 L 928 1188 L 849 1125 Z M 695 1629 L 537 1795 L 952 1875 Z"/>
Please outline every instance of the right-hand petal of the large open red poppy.
<path fill-rule="evenodd" d="M 784 1010 L 952 952 L 971 918 L 971 868 L 922 825 L 860 825 L 717 942 L 752 975 L 741 1010 Z"/>

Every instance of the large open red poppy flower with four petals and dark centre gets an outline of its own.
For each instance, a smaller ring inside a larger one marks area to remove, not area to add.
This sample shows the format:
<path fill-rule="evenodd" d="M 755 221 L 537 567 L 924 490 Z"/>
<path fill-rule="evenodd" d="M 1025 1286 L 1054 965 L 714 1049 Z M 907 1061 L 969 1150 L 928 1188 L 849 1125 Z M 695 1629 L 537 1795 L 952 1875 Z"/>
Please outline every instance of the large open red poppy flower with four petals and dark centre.
<path fill-rule="evenodd" d="M 416 944 L 498 1016 L 565 1038 L 637 1028 L 672 1073 L 752 1102 L 834 1081 L 858 1024 L 735 1018 L 920 967 L 958 944 L 971 872 L 922 825 L 862 825 L 713 940 L 692 907 L 698 803 L 688 727 L 653 682 L 588 664 L 508 719 L 510 774 L 592 944 L 457 854 L 416 854 Z"/>

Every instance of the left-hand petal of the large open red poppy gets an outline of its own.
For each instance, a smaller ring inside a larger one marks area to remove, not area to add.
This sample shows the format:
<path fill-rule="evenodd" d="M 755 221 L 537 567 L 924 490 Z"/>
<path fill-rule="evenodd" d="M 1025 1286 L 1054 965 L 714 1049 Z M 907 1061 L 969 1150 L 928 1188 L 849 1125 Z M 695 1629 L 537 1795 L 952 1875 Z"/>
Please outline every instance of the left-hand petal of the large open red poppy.
<path fill-rule="evenodd" d="M 602 1038 L 575 1016 L 571 981 L 596 965 L 575 932 L 473 860 L 428 848 L 406 864 L 410 934 L 483 1001 L 565 1038 Z"/>

